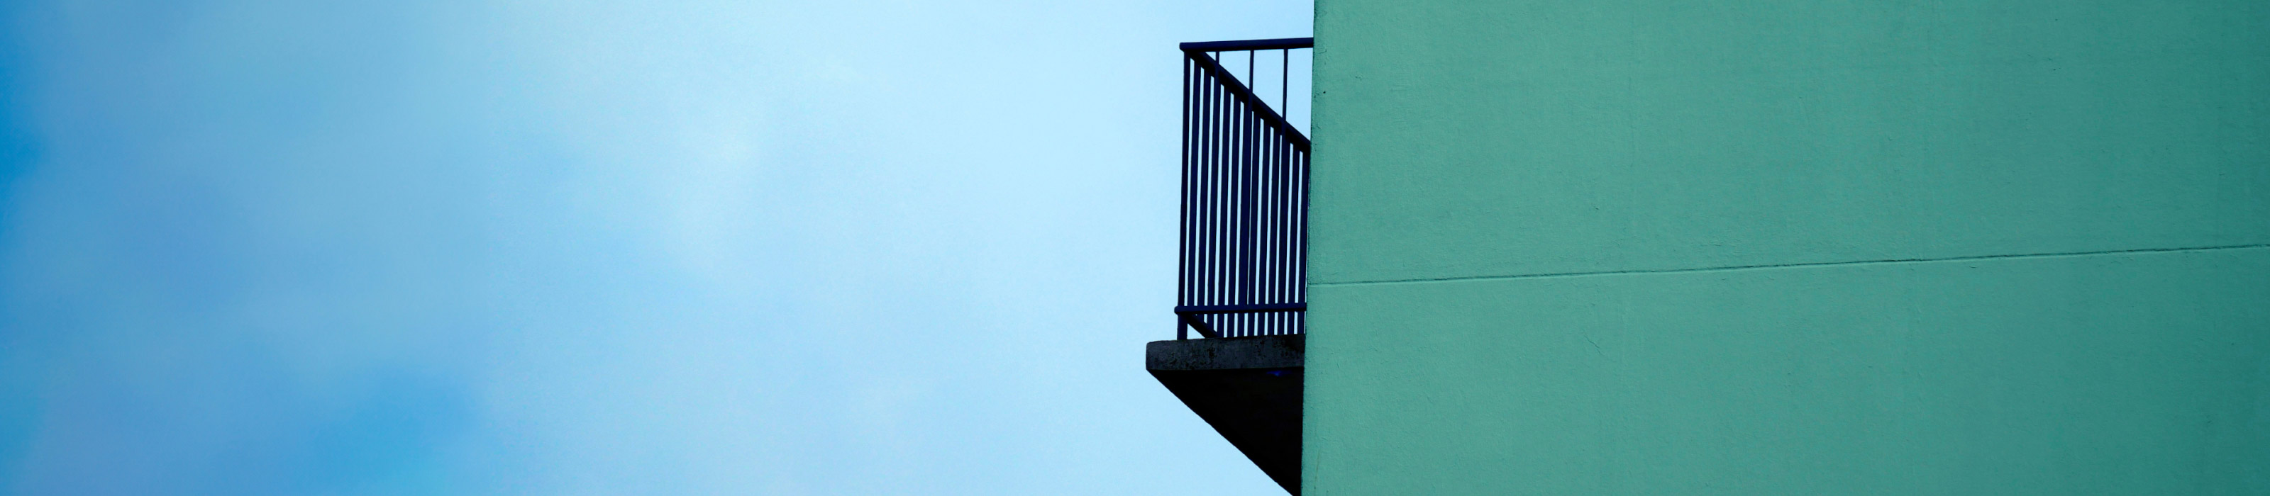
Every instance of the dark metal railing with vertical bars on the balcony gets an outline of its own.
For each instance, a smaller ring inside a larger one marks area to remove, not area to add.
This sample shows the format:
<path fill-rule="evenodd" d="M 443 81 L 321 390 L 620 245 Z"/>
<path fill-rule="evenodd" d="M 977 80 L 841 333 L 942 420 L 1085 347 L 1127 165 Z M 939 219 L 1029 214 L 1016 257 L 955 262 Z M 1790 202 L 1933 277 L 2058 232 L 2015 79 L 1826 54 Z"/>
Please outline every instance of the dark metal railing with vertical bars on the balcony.
<path fill-rule="evenodd" d="M 1255 61 L 1314 39 L 1183 43 L 1183 236 L 1176 340 L 1296 335 L 1308 326 L 1308 136 L 1253 93 Z M 1244 52 L 1246 79 L 1221 66 Z"/>

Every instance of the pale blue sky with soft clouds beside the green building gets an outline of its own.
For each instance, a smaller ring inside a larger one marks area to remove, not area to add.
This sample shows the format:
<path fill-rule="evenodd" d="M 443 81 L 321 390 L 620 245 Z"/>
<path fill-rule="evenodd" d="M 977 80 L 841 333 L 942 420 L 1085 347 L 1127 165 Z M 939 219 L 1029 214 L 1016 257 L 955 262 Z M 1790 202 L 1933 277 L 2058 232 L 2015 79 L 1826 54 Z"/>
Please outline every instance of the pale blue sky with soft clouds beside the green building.
<path fill-rule="evenodd" d="M 1142 342 L 1174 43 L 1308 29 L 0 0 L 0 491 L 1273 494 Z"/>

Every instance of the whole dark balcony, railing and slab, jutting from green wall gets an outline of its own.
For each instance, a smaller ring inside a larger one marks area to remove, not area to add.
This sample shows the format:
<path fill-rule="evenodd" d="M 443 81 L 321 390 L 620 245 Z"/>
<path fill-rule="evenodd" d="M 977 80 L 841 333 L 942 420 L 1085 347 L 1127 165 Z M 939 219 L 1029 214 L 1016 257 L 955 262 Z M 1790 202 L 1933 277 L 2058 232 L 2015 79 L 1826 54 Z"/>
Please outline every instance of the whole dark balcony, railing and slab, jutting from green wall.
<path fill-rule="evenodd" d="M 1280 109 L 1292 102 L 1294 50 L 1312 45 L 1183 43 L 1176 337 L 1146 347 L 1151 376 L 1289 494 L 1301 494 L 1308 136 Z M 1269 59 L 1278 106 L 1255 93 Z"/>

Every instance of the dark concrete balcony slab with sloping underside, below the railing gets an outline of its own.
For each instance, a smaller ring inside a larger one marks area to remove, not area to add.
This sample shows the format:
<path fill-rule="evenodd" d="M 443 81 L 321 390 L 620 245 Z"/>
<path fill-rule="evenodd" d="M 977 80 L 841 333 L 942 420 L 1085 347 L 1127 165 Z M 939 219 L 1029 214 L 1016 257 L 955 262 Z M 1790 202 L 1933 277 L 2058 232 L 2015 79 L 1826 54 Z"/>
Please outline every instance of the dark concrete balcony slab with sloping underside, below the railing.
<path fill-rule="evenodd" d="M 1285 491 L 1301 494 L 1303 335 L 1151 342 L 1146 365 Z"/>

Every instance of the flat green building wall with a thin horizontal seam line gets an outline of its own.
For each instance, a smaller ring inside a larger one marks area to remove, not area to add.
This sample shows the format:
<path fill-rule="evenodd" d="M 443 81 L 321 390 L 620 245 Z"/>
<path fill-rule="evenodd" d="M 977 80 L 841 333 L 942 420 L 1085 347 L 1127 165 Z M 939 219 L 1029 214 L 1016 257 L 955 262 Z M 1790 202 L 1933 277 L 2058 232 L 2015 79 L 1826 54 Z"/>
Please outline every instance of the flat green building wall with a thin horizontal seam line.
<path fill-rule="evenodd" d="M 2270 2 L 1319 0 L 1303 491 L 2270 494 Z"/>

